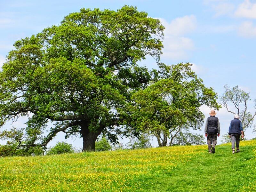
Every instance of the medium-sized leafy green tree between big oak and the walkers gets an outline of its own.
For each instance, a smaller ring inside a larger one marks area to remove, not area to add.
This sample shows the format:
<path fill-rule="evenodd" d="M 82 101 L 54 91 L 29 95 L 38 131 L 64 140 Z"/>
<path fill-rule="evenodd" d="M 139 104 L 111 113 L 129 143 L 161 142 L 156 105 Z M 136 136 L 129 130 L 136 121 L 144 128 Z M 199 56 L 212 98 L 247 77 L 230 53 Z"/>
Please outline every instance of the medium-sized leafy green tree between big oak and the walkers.
<path fill-rule="evenodd" d="M 133 103 L 128 107 L 131 126 L 137 132 L 155 135 L 159 146 L 166 146 L 168 137 L 172 145 L 183 127 L 201 129 L 204 120 L 199 110 L 201 105 L 220 107 L 217 94 L 204 86 L 191 66 L 159 64 L 160 70 L 153 71 L 156 82 L 132 95 Z"/>

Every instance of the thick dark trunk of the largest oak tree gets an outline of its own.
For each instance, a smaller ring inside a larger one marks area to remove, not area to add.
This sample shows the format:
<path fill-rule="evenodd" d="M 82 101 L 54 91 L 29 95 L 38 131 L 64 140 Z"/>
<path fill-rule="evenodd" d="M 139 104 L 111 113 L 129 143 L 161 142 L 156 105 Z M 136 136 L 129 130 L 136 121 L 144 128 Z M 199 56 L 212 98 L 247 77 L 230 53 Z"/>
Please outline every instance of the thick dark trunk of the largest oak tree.
<path fill-rule="evenodd" d="M 96 132 L 90 132 L 88 126 L 81 125 L 81 134 L 83 137 L 83 152 L 95 151 L 95 142 L 100 133 L 101 130 L 97 130 Z"/>

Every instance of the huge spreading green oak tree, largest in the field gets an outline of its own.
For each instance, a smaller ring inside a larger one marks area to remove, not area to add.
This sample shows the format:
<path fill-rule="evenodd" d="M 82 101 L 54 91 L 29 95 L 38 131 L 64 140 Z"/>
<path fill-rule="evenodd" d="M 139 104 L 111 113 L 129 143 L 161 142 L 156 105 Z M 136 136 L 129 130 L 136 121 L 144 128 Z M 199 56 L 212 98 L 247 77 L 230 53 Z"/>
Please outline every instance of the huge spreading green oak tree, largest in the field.
<path fill-rule="evenodd" d="M 83 137 L 83 151 L 94 150 L 102 132 L 116 143 L 113 132 L 124 125 L 119 110 L 149 82 L 136 62 L 146 55 L 159 61 L 163 30 L 136 7 L 82 8 L 16 41 L 0 72 L 0 126 L 29 116 L 19 148 L 46 148 L 58 132 Z"/>

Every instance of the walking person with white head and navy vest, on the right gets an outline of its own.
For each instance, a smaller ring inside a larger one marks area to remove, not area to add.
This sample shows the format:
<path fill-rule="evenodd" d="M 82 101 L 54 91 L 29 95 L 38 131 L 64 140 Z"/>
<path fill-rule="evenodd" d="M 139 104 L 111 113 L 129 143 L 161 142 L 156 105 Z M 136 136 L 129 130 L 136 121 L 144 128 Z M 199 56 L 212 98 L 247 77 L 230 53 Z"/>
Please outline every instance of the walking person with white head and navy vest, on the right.
<path fill-rule="evenodd" d="M 234 119 L 230 122 L 229 129 L 228 129 L 229 137 L 231 137 L 232 143 L 232 154 L 235 153 L 235 143 L 236 143 L 236 153 L 240 152 L 239 149 L 239 142 L 240 142 L 240 135 L 244 138 L 244 131 L 242 122 L 239 120 L 239 115 L 234 115 Z"/>

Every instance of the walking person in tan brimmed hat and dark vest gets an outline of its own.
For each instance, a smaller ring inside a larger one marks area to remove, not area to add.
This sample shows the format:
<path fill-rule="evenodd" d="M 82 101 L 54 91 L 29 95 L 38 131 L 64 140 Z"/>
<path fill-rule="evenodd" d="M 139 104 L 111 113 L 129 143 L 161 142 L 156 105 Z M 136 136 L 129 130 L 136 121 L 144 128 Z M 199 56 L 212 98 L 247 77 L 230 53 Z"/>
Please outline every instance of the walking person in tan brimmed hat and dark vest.
<path fill-rule="evenodd" d="M 209 153 L 215 153 L 217 137 L 220 137 L 220 121 L 218 117 L 215 117 L 216 114 L 214 110 L 211 110 L 210 116 L 205 121 L 204 133 L 207 137 Z"/>

